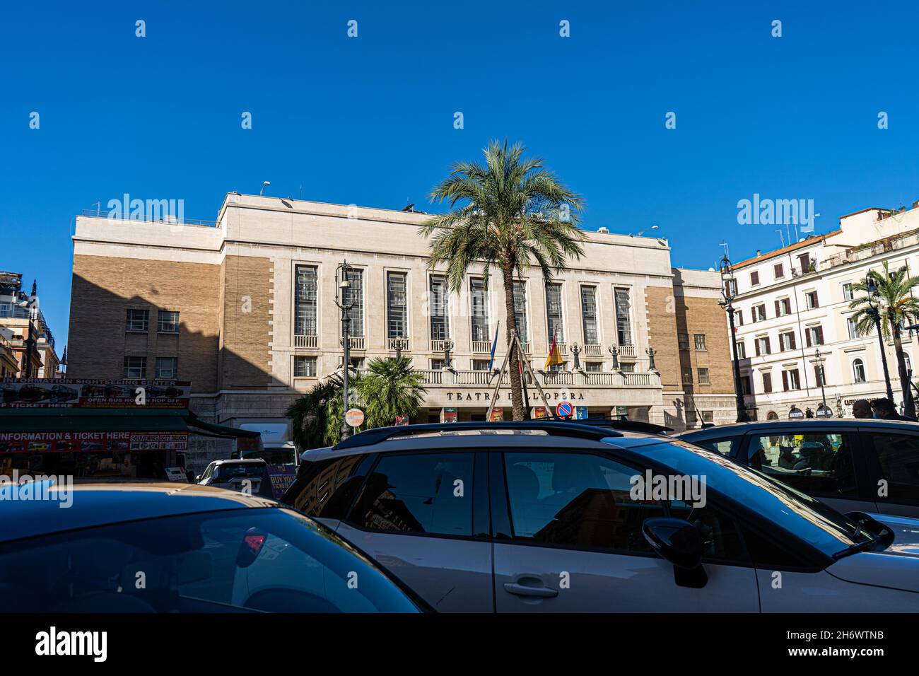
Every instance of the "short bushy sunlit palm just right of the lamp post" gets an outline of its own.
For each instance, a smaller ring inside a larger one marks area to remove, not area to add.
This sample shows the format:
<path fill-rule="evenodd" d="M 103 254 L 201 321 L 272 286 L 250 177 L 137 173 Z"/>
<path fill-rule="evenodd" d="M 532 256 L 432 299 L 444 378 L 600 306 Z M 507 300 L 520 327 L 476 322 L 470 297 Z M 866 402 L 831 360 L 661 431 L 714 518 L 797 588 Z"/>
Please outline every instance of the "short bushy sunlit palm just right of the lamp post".
<path fill-rule="evenodd" d="M 369 361 L 355 387 L 367 416 L 366 424 L 386 427 L 397 416 L 415 416 L 425 395 L 425 376 L 412 368 L 408 357 Z"/>

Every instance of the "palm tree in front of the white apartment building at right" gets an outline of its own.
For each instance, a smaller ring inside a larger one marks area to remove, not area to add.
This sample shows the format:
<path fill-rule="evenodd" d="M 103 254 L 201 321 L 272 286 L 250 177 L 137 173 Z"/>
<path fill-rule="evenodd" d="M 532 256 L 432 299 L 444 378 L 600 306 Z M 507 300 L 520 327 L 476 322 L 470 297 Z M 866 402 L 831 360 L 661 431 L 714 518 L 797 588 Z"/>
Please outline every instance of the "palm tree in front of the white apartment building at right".
<path fill-rule="evenodd" d="M 856 298 L 849 307 L 857 310 L 853 315 L 860 335 L 868 335 L 880 321 L 881 349 L 880 356 L 884 363 L 887 378 L 888 396 L 891 395 L 890 376 L 887 374 L 887 357 L 884 354 L 883 341 L 893 336 L 893 349 L 897 354 L 897 372 L 900 374 L 900 386 L 903 396 L 904 414 L 915 418 L 915 404 L 910 389 L 910 376 L 906 371 L 906 360 L 903 358 L 902 327 L 919 316 L 919 299 L 913 297 L 913 288 L 919 286 L 919 277 L 910 277 L 909 269 L 902 266 L 891 272 L 887 261 L 884 261 L 884 272 L 869 270 L 864 281 L 852 285 L 853 291 L 866 292 L 864 298 Z"/>

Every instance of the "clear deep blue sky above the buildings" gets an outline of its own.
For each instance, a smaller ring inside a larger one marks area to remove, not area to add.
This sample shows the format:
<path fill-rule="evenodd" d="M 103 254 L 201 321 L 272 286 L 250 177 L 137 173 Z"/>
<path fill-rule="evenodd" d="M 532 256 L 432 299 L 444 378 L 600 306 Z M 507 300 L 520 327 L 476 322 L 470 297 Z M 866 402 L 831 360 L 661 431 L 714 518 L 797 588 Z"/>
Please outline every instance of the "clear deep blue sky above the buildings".
<path fill-rule="evenodd" d="M 263 180 L 423 208 L 452 161 L 507 136 L 584 195 L 587 228 L 658 224 L 674 264 L 698 268 L 722 240 L 734 259 L 779 245 L 775 226 L 737 224 L 754 192 L 814 200 L 818 233 L 919 199 L 914 2 L 207 5 L 4 7 L 0 269 L 39 279 L 59 349 L 74 215 L 124 192 L 201 219 Z"/>

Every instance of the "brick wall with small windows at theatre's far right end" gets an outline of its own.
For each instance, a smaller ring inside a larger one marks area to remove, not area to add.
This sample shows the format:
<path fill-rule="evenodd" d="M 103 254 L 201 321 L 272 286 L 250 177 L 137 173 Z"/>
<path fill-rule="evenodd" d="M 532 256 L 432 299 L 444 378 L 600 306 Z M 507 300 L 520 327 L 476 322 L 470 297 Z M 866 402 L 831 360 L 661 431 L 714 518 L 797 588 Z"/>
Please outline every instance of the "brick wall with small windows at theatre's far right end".
<path fill-rule="evenodd" d="M 692 369 L 693 386 L 686 387 L 696 395 L 732 394 L 731 345 L 725 330 L 724 310 L 715 298 L 676 296 L 676 331 L 689 336 L 689 349 L 680 350 L 682 366 Z M 705 334 L 705 351 L 696 349 L 695 335 Z M 709 369 L 710 385 L 698 383 L 699 367 Z"/>

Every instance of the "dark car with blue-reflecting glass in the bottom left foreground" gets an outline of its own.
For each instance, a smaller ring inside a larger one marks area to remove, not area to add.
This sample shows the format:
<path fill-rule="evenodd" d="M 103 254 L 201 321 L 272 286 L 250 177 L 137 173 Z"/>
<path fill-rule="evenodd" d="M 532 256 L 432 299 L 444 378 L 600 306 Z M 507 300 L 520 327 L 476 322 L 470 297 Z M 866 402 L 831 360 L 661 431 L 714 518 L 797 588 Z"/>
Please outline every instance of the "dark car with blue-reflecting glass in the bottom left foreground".
<path fill-rule="evenodd" d="M 274 500 L 175 483 L 70 490 L 67 509 L 56 486 L 50 499 L 4 501 L 4 612 L 425 608 L 335 533 Z"/>

